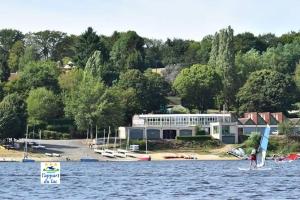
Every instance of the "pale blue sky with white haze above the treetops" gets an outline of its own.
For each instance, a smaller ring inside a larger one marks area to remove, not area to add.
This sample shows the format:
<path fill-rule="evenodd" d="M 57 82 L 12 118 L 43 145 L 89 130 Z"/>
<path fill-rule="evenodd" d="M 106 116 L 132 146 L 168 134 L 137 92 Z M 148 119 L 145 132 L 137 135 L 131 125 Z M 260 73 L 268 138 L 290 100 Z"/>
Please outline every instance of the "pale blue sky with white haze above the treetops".
<path fill-rule="evenodd" d="M 235 34 L 300 30 L 299 0 L 0 0 L 0 29 L 201 40 L 231 26 Z"/>

